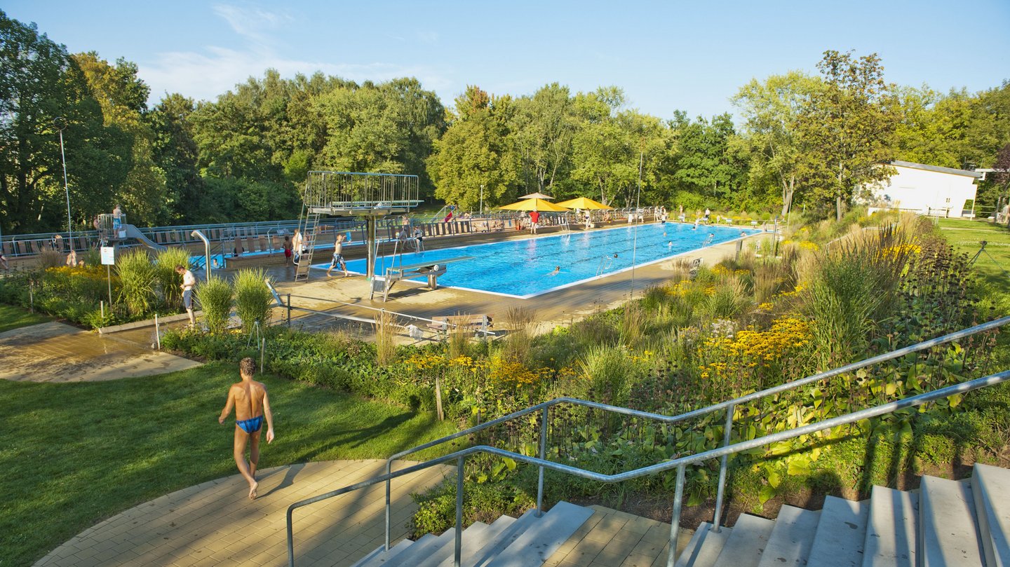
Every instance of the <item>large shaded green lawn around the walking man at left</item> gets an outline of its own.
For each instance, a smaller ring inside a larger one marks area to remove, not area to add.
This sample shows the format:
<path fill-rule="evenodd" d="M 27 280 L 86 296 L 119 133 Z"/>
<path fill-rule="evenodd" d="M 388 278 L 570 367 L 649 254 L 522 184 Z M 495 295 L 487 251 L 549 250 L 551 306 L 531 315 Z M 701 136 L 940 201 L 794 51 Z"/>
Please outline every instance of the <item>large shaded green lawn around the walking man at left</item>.
<path fill-rule="evenodd" d="M 0 565 L 30 565 L 134 504 L 236 474 L 220 426 L 234 365 L 90 383 L 0 380 Z M 261 468 L 383 458 L 456 431 L 414 414 L 271 375 L 277 439 Z M 227 423 L 227 422 L 226 422 Z"/>

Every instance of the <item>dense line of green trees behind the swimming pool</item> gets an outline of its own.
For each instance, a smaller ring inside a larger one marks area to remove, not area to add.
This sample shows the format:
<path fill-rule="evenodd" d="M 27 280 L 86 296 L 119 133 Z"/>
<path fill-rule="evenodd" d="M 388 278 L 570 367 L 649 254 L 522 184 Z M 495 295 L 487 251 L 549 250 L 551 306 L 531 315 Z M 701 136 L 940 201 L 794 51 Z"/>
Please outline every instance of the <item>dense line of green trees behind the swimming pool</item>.
<path fill-rule="evenodd" d="M 464 209 L 540 191 L 827 216 L 886 177 L 882 161 L 1010 159 L 1008 82 L 977 94 L 899 87 L 876 54 L 833 50 L 817 67 L 741 87 L 738 124 L 729 113 L 649 116 L 613 86 L 554 83 L 522 97 L 471 86 L 446 109 L 416 79 L 274 70 L 215 101 L 174 93 L 148 108 L 134 64 L 68 53 L 0 12 L 0 228 L 66 228 L 61 130 L 77 227 L 117 203 L 137 224 L 291 218 L 310 169 L 416 174 L 423 198 Z M 1002 186 L 984 186 L 980 201 Z"/>

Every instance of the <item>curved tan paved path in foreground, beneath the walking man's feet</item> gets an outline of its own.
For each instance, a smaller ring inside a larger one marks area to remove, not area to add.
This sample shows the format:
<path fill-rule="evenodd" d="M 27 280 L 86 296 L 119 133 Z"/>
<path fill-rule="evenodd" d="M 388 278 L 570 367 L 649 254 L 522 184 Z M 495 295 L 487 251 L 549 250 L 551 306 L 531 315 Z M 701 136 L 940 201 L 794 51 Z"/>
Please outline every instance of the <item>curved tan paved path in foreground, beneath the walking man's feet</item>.
<path fill-rule="evenodd" d="M 53 550 L 42 566 L 287 565 L 290 504 L 385 472 L 386 461 L 328 461 L 262 471 L 260 497 L 246 498 L 237 474 L 191 486 L 114 516 Z M 393 481 L 392 540 L 407 535 L 416 509 L 410 498 L 451 467 L 434 467 Z M 294 513 L 299 567 L 350 565 L 385 539 L 385 485 L 330 498 Z"/>

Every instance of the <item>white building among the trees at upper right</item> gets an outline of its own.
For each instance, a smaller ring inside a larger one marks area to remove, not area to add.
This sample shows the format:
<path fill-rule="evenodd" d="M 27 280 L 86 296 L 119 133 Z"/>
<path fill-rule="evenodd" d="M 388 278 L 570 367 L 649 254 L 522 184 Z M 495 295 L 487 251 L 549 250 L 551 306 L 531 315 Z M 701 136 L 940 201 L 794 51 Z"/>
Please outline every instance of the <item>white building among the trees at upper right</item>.
<path fill-rule="evenodd" d="M 891 161 L 890 165 L 898 173 L 867 188 L 875 208 L 944 217 L 972 216 L 978 189 L 975 182 L 982 179 L 982 174 L 911 161 Z"/>

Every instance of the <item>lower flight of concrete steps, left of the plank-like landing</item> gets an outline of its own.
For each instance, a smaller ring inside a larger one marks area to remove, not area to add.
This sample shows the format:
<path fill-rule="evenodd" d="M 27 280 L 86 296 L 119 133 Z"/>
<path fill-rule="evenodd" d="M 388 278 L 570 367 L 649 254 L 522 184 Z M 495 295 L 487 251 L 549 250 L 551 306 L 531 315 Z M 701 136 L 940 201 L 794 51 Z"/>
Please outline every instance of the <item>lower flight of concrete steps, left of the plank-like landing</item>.
<path fill-rule="evenodd" d="M 593 509 L 558 502 L 537 518 L 534 511 L 518 520 L 503 516 L 490 526 L 476 522 L 463 532 L 462 564 L 468 567 L 528 567 L 542 565 L 593 516 Z M 416 542 L 403 540 L 384 551 L 379 548 L 354 567 L 451 567 L 456 530 L 428 534 Z"/>

